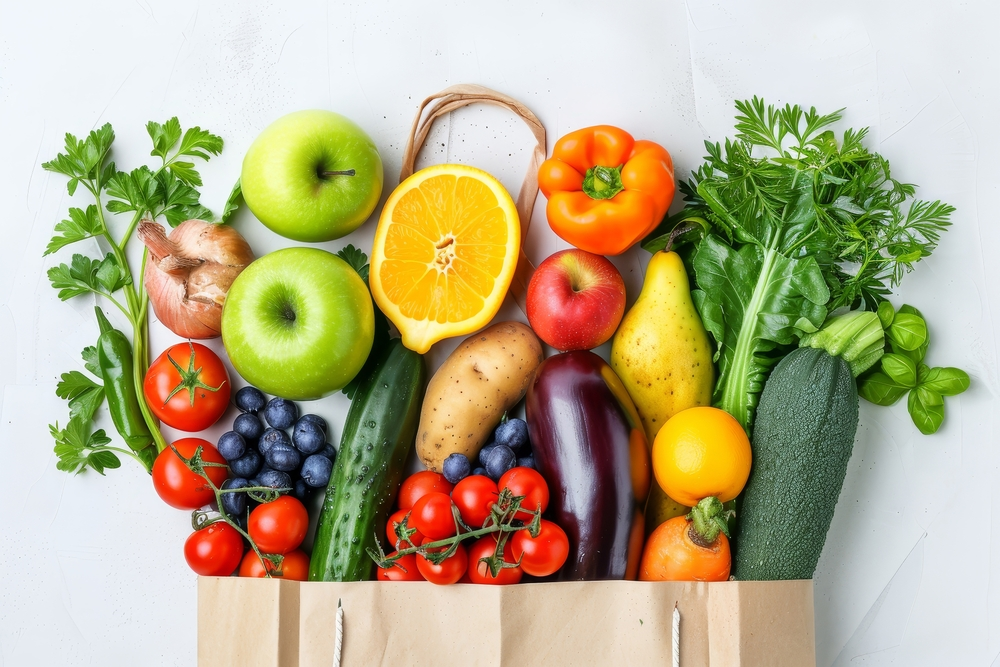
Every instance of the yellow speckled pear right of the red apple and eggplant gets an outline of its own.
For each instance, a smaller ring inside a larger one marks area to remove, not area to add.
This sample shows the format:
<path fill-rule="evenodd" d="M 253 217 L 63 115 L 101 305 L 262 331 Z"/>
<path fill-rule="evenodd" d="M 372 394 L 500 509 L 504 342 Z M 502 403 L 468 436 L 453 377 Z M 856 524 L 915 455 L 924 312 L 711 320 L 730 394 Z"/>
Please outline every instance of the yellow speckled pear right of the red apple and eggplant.
<path fill-rule="evenodd" d="M 650 444 L 676 413 L 711 404 L 712 348 L 677 253 L 660 251 L 649 260 L 642 292 L 611 344 L 611 367 Z"/>

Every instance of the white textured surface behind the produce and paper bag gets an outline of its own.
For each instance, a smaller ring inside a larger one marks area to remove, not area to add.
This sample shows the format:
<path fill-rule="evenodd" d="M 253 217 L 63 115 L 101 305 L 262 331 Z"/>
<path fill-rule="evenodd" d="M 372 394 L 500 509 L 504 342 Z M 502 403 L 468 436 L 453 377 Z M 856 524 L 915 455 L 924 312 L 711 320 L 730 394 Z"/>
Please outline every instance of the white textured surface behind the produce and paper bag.
<path fill-rule="evenodd" d="M 209 128 L 226 140 L 202 169 L 203 203 L 218 210 L 270 121 L 333 109 L 374 138 L 388 194 L 416 104 L 464 82 L 527 104 L 550 148 L 569 130 L 616 124 L 664 144 L 682 178 L 704 139 L 732 133 L 734 98 L 847 107 L 844 127 L 870 126 L 870 145 L 897 177 L 958 207 L 938 252 L 895 301 L 927 316 L 930 363 L 967 369 L 973 386 L 949 399 L 932 437 L 916 431 L 904 405 L 863 405 L 815 577 L 817 653 L 824 667 L 1000 665 L 994 7 L 2 0 L 0 665 L 195 663 L 195 576 L 182 555 L 188 516 L 160 502 L 127 462 L 107 477 L 55 469 L 47 424 L 65 421 L 66 407 L 53 389 L 60 373 L 81 368 L 80 350 L 97 336 L 93 302 L 59 302 L 45 277 L 96 244 L 41 257 L 68 206 L 87 203 L 40 169 L 63 133 L 111 122 L 114 159 L 131 168 L 152 160 L 147 120 L 177 115 L 185 127 Z M 475 164 L 516 192 L 531 142 L 519 123 L 492 108 L 462 110 L 440 123 L 422 164 Z M 287 244 L 247 211 L 235 225 L 258 255 Z M 369 221 L 322 246 L 367 249 L 373 233 Z M 537 263 L 563 245 L 539 205 L 529 255 Z M 647 257 L 616 260 L 631 298 Z M 520 317 L 509 300 L 501 315 Z M 153 324 L 154 350 L 175 341 Z M 437 346 L 432 362 L 453 345 Z M 334 442 L 346 406 L 340 395 L 310 406 L 333 422 Z"/>

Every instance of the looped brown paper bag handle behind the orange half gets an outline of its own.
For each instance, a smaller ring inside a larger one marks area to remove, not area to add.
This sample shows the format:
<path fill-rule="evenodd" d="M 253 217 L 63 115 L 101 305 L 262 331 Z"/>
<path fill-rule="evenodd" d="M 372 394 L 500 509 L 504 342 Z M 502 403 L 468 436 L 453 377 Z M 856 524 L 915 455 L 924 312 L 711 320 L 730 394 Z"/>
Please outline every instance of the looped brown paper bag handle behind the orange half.
<path fill-rule="evenodd" d="M 427 109 L 431 102 L 434 104 L 430 109 Z M 524 175 L 524 181 L 521 183 L 521 189 L 517 193 L 517 201 L 515 202 L 521 226 L 521 247 L 518 248 L 517 268 L 514 269 L 514 278 L 510 283 L 510 292 L 513 294 L 514 300 L 527 314 L 525 302 L 528 294 L 528 281 L 531 280 L 531 274 L 535 267 L 528 260 L 528 256 L 524 254 L 524 239 L 528 236 L 531 211 L 535 208 L 535 199 L 538 197 L 538 168 L 545 160 L 545 128 L 538 117 L 514 98 L 485 86 L 461 83 L 445 88 L 425 99 L 417 108 L 417 115 L 410 127 L 410 136 L 406 140 L 406 150 L 403 151 L 403 167 L 399 172 L 399 181 L 402 183 L 413 174 L 413 165 L 417 161 L 417 155 L 427 140 L 427 135 L 434 121 L 455 109 L 477 102 L 492 104 L 514 112 L 535 135 L 536 143 L 531 153 L 531 160 L 528 162 L 528 172 Z M 425 109 L 427 110 L 426 115 L 424 114 Z"/>

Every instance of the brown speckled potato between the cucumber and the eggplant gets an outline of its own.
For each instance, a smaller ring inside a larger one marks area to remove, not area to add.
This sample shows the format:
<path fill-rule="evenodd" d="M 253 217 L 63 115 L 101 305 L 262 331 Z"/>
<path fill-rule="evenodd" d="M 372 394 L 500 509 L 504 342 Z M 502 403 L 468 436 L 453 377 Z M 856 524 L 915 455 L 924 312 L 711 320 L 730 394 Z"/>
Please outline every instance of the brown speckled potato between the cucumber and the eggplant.
<path fill-rule="evenodd" d="M 423 464 L 441 472 L 458 452 L 475 467 L 490 432 L 524 397 L 543 357 L 542 344 L 520 322 L 500 322 L 465 339 L 427 385 L 417 430 Z"/>

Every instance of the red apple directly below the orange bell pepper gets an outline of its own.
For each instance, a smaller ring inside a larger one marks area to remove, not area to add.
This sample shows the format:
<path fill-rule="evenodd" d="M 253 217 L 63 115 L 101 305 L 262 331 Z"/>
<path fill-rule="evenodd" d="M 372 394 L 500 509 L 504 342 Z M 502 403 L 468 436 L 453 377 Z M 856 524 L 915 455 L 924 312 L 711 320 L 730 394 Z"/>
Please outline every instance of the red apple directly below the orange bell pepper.
<path fill-rule="evenodd" d="M 584 250 L 561 250 L 528 283 L 528 323 L 561 352 L 610 340 L 625 313 L 625 282 L 615 265 Z"/>

